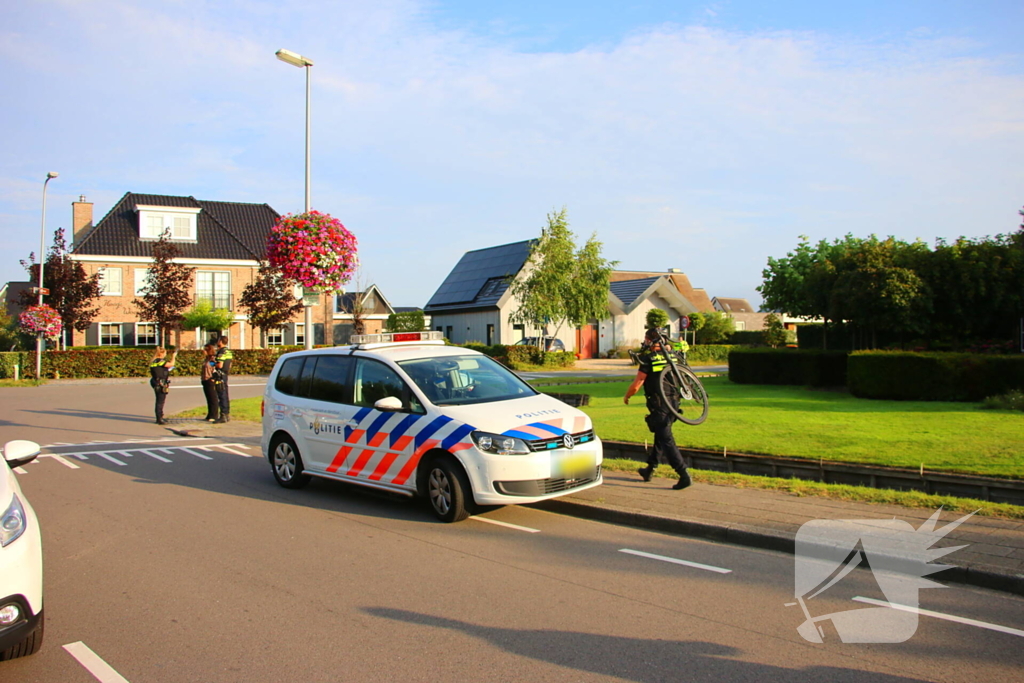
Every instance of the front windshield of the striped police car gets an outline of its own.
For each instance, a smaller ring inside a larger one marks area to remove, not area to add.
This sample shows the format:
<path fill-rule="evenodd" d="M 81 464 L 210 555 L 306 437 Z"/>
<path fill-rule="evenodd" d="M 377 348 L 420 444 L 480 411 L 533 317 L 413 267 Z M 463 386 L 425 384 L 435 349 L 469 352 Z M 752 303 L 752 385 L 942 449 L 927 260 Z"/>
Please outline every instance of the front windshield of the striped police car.
<path fill-rule="evenodd" d="M 532 396 L 537 391 L 485 355 L 400 360 L 398 366 L 434 405 L 487 403 Z"/>

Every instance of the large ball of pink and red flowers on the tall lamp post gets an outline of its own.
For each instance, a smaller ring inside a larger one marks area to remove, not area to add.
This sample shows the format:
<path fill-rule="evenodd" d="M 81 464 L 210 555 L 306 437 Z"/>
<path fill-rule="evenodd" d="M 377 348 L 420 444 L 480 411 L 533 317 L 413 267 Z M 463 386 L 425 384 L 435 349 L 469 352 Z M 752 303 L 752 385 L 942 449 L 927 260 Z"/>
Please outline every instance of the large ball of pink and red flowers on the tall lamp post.
<path fill-rule="evenodd" d="M 339 292 L 359 265 L 355 236 L 329 214 L 288 214 L 270 228 L 266 256 L 288 280 L 319 292 Z"/>

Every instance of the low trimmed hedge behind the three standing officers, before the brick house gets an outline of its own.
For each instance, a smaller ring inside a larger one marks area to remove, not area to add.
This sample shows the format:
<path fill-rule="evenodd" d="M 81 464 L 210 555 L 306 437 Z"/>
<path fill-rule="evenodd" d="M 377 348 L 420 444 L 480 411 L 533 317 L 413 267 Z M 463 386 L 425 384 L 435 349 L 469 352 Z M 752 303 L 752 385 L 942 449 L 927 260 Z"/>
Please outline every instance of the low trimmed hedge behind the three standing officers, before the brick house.
<path fill-rule="evenodd" d="M 278 349 L 254 348 L 233 351 L 232 375 L 268 375 L 278 361 Z M 43 353 L 43 377 L 84 379 L 92 377 L 148 377 L 153 349 L 115 348 L 103 350 L 46 351 Z M 199 375 L 203 351 L 183 350 L 177 355 L 174 374 Z M 22 377 L 36 373 L 35 351 L 0 353 L 0 378 L 14 377 L 14 365 L 22 368 Z"/>

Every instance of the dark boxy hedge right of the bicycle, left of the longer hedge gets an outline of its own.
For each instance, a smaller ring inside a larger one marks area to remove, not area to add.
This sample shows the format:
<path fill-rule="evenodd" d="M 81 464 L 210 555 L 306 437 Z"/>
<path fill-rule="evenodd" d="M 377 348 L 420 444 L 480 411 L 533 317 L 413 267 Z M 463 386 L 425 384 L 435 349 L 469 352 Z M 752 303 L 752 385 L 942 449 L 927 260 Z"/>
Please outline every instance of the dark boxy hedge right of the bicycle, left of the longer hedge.
<path fill-rule="evenodd" d="M 846 351 L 734 348 L 729 353 L 729 380 L 736 384 L 843 386 Z"/>

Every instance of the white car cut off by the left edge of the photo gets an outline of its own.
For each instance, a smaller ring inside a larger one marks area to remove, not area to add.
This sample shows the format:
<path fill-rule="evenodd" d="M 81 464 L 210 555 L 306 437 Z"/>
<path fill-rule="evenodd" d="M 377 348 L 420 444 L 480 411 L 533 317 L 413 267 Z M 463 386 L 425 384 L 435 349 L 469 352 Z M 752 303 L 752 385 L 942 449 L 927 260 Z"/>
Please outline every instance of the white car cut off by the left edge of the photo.
<path fill-rule="evenodd" d="M 0 464 L 0 661 L 43 644 L 42 537 L 13 472 L 38 455 L 38 443 L 8 441 Z"/>

